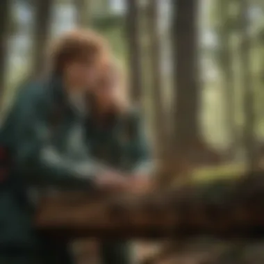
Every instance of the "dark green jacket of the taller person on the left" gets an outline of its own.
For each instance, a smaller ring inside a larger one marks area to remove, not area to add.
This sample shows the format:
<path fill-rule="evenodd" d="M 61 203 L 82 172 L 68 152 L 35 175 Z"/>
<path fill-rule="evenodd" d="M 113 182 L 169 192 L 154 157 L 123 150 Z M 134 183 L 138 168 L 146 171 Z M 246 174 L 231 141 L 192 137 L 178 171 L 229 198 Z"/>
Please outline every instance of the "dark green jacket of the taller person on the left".
<path fill-rule="evenodd" d="M 28 83 L 19 92 L 0 131 L 12 157 L 8 179 L 0 182 L 0 251 L 38 245 L 28 186 L 91 188 L 104 170 L 88 157 L 82 129 L 60 80 Z"/>

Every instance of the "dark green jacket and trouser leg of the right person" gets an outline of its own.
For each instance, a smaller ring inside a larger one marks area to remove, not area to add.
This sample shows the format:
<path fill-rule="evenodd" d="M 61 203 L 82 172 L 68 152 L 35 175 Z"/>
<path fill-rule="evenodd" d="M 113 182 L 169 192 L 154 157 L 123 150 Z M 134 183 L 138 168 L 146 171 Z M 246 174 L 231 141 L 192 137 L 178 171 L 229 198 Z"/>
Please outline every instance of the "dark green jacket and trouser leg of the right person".
<path fill-rule="evenodd" d="M 120 117 L 110 117 L 104 126 L 99 126 L 92 114 L 88 117 L 85 135 L 94 158 L 128 174 L 149 166 L 151 156 L 137 110 L 130 110 Z M 133 263 L 133 252 L 127 241 L 102 242 L 100 253 L 103 264 Z"/>

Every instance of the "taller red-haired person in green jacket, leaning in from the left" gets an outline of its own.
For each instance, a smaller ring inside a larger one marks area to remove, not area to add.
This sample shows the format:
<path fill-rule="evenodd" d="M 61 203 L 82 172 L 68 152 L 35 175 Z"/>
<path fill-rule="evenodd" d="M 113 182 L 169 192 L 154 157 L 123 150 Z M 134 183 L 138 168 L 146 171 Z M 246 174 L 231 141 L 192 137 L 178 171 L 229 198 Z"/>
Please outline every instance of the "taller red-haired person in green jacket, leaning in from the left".
<path fill-rule="evenodd" d="M 0 131 L 0 263 L 71 262 L 67 245 L 56 245 L 34 229 L 31 186 L 90 190 L 124 185 L 83 147 L 85 93 L 108 53 L 93 32 L 66 33 L 52 47 L 49 74 L 19 90 Z"/>

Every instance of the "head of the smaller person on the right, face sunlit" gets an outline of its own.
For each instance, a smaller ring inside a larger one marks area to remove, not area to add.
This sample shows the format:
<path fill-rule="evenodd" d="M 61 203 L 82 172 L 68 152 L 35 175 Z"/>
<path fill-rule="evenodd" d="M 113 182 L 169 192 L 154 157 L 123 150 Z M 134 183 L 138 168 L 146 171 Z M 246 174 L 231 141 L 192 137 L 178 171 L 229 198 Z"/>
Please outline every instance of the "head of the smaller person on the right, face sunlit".
<path fill-rule="evenodd" d="M 117 63 L 102 66 L 99 78 L 90 92 L 93 107 L 103 115 L 122 113 L 128 107 L 124 72 Z"/>

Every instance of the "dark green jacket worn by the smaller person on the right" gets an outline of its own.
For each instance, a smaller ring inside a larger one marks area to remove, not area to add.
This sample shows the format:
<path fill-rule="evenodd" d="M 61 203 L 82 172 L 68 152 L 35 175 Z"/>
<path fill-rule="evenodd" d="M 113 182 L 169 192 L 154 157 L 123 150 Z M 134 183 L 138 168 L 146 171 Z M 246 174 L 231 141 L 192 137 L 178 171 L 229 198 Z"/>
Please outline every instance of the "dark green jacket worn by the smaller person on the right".
<path fill-rule="evenodd" d="M 92 115 L 86 122 L 86 145 L 101 163 L 130 173 L 149 173 L 153 163 L 147 136 L 138 110 L 131 109 L 119 117 L 110 117 L 104 127 Z"/>

